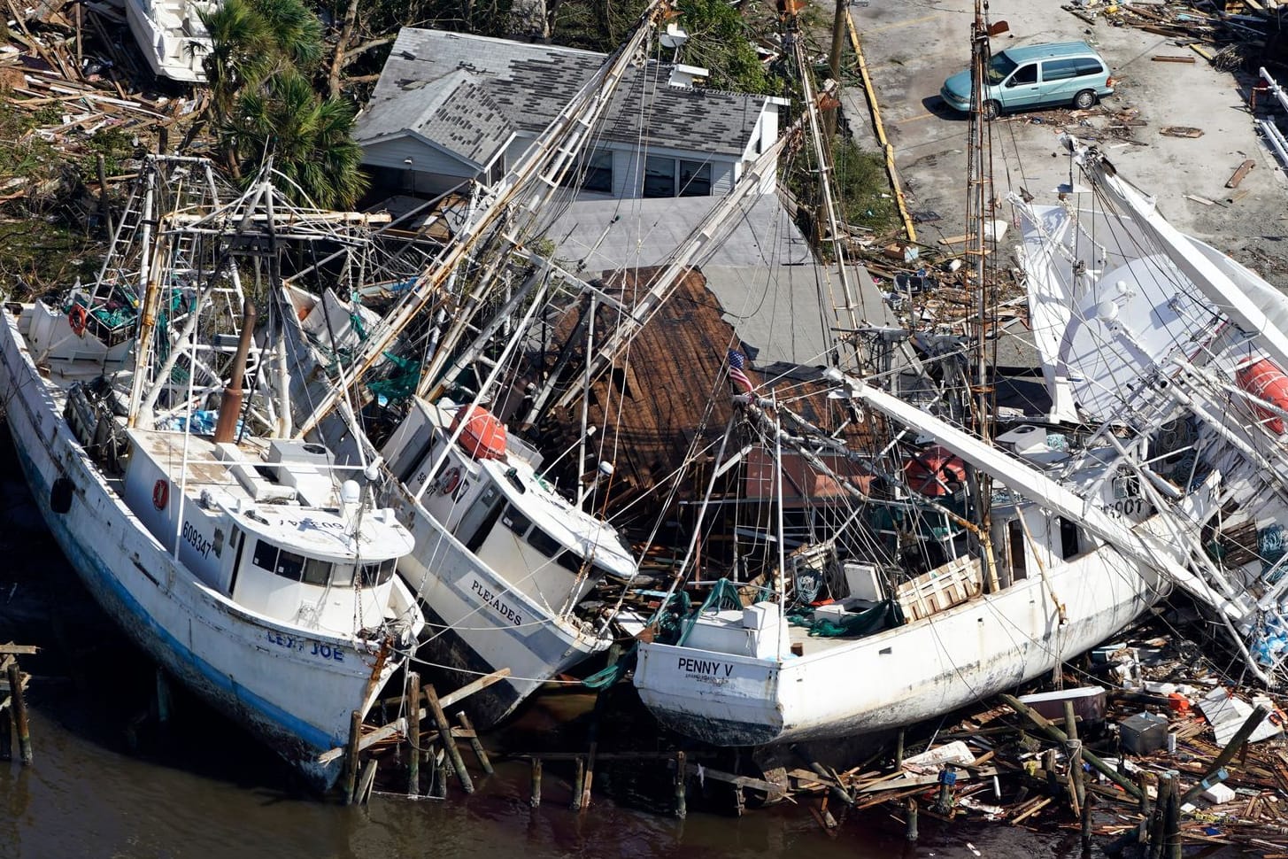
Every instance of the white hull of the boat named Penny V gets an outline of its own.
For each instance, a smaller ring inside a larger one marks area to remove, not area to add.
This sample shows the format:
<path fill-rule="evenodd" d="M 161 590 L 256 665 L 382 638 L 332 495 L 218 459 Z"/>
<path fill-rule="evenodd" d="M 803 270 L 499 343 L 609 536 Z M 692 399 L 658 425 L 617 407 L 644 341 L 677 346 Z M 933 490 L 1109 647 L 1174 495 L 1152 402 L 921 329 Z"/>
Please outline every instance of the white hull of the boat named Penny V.
<path fill-rule="evenodd" d="M 786 659 L 640 643 L 635 688 L 667 728 L 715 746 L 875 733 L 1050 672 L 1162 595 L 1157 574 L 1101 547 L 922 621 Z"/>

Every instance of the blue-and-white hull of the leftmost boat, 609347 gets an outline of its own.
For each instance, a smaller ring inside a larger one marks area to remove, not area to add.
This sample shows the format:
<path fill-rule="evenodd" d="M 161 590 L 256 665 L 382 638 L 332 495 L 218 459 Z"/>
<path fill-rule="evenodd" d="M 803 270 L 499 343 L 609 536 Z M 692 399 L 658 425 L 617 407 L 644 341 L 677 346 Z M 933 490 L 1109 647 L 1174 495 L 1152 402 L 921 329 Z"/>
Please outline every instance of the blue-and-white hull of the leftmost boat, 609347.
<path fill-rule="evenodd" d="M 352 637 L 300 637 L 238 608 L 178 564 L 76 440 L 61 398 L 37 372 L 8 310 L 0 323 L 0 392 L 36 505 L 103 610 L 158 665 L 313 786 L 332 784 L 339 765 L 316 759 L 346 742 L 352 712 L 366 713 L 394 661 L 381 661 Z M 75 487 L 66 513 L 50 502 L 59 478 Z"/>

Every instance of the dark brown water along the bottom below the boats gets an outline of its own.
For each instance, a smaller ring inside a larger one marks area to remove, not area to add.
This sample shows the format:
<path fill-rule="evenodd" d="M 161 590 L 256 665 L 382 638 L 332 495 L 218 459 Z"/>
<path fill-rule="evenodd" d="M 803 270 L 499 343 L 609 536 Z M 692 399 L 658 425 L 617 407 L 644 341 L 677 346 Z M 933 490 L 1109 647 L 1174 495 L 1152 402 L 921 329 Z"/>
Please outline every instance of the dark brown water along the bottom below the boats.
<path fill-rule="evenodd" d="M 568 773 L 553 764 L 542 805 L 531 809 L 528 769 L 519 761 L 500 762 L 469 797 L 453 784 L 446 801 L 381 795 L 363 807 L 318 801 L 294 791 L 285 765 L 180 690 L 169 726 L 158 725 L 149 712 L 151 666 L 63 562 L 30 505 L 6 435 L 0 558 L 0 640 L 44 648 L 21 661 L 32 674 L 35 764 L 0 762 L 0 859 L 1038 859 L 1078 849 L 1075 833 L 939 824 L 925 815 L 921 840 L 905 845 L 902 826 L 880 811 L 842 818 L 828 835 L 804 805 L 735 818 L 701 810 L 697 797 L 680 820 L 667 810 L 665 782 L 641 768 L 601 773 L 596 786 L 607 793 L 583 813 L 568 807 Z M 528 743 L 549 739 L 583 704 L 576 695 L 538 702 L 488 744 L 532 748 Z M 719 801 L 719 791 L 712 793 L 715 807 L 728 807 L 728 795 Z"/>

